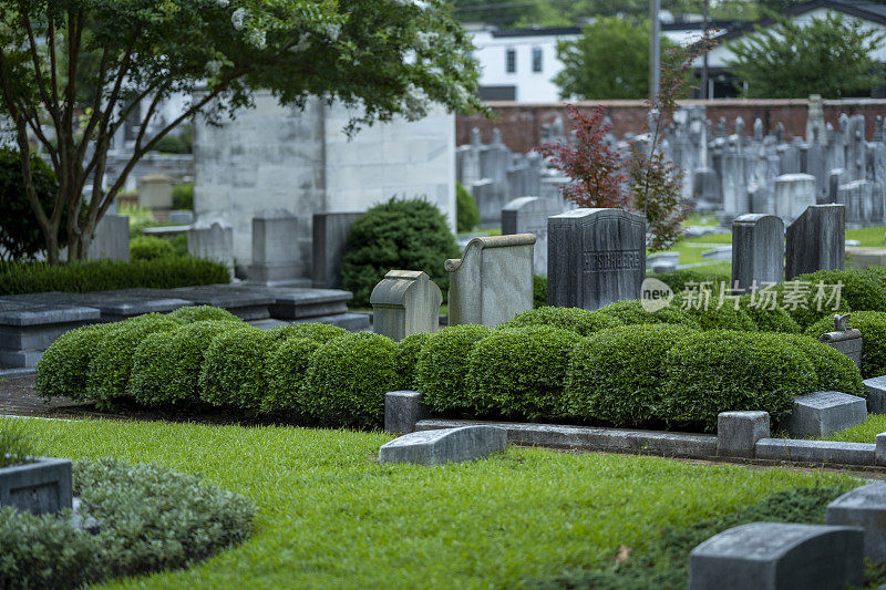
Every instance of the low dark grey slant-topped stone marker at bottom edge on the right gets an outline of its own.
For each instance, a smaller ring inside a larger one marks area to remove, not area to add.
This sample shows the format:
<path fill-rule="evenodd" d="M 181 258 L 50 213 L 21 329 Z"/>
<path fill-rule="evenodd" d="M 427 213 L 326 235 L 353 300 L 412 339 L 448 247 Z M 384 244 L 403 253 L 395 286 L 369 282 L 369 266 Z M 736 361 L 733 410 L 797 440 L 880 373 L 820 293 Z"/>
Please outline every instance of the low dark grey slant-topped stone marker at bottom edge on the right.
<path fill-rule="evenodd" d="M 689 553 L 689 590 L 843 590 L 864 581 L 854 527 L 751 522 Z"/>

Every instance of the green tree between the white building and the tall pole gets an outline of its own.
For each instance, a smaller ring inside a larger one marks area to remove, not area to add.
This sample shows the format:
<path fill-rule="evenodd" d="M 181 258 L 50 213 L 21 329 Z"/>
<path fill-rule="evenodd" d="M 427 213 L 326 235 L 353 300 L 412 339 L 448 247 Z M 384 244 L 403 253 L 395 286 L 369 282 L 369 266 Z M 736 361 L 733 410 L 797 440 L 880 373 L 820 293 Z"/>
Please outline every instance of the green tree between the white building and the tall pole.
<path fill-rule="evenodd" d="M 661 38 L 662 51 L 677 45 Z M 649 96 L 649 22 L 600 17 L 576 40 L 557 43 L 564 69 L 554 76 L 564 99 Z"/>

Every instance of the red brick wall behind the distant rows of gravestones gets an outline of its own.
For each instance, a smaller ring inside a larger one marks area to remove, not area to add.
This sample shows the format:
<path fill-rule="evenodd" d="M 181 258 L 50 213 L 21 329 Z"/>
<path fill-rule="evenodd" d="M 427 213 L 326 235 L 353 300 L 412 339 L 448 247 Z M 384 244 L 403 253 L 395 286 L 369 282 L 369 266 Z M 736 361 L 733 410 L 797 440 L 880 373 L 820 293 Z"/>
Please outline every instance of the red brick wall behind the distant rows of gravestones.
<path fill-rule="evenodd" d="M 493 118 L 481 115 L 459 115 L 455 120 L 455 142 L 457 145 L 470 143 L 471 130 L 481 131 L 483 143 L 492 141 L 492 130 L 502 132 L 502 141 L 513 152 L 525 153 L 542 141 L 542 125 L 553 123 L 560 116 L 568 125 L 566 105 L 557 104 L 521 104 L 513 102 L 488 102 Z M 612 131 L 618 137 L 627 133 L 640 133 L 646 125 L 646 103 L 643 101 L 593 101 L 575 103 L 581 110 L 602 107 L 612 120 Z M 805 136 L 808 101 L 805 99 L 772 100 L 717 100 L 684 101 L 682 104 L 703 104 L 707 116 L 714 126 L 720 117 L 725 117 L 730 133 L 734 132 L 735 117 L 744 120 L 744 130 L 751 134 L 755 118 L 763 121 L 763 128 L 774 131 L 779 123 L 784 124 L 786 135 Z M 837 128 L 841 113 L 847 115 L 865 115 L 865 133 L 867 139 L 874 135 L 874 121 L 877 115 L 886 117 L 886 100 L 848 99 L 842 101 L 824 101 L 825 121 Z"/>

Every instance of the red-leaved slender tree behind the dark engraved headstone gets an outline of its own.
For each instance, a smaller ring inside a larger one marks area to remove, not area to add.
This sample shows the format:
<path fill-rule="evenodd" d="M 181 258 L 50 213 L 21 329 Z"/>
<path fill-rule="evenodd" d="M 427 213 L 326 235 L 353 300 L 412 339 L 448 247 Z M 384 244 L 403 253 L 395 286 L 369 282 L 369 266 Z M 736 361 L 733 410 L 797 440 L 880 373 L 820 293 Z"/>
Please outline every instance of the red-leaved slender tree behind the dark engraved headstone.
<path fill-rule="evenodd" d="M 536 151 L 569 177 L 563 196 L 579 207 L 614 207 L 639 213 L 647 220 L 647 248 L 670 248 L 682 236 L 682 221 L 690 211 L 682 196 L 683 170 L 661 151 L 662 132 L 673 122 L 677 101 L 689 90 L 692 62 L 714 45 L 705 33 L 689 48 L 666 52 L 660 90 L 647 101 L 647 139 L 633 143 L 628 154 L 607 143 L 611 124 L 598 107 L 585 114 L 568 105 L 575 144 L 557 141 Z"/>

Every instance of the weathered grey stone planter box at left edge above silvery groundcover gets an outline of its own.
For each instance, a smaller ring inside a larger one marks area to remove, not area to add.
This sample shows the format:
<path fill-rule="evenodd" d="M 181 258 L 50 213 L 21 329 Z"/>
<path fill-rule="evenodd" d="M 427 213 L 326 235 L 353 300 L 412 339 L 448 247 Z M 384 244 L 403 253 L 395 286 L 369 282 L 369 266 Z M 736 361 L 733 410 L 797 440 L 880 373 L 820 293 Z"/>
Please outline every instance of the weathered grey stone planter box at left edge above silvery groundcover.
<path fill-rule="evenodd" d="M 71 460 L 38 457 L 0 469 L 0 506 L 35 515 L 71 508 Z"/>

